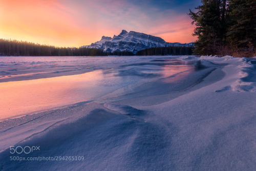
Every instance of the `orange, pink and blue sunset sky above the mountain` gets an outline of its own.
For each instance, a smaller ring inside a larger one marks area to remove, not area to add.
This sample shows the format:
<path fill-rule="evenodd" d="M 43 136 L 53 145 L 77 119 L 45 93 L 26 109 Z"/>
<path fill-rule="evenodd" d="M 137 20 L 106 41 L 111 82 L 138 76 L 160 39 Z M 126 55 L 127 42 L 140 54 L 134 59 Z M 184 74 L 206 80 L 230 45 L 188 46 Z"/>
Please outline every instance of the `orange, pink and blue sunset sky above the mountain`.
<path fill-rule="evenodd" d="M 201 0 L 0 0 L 0 38 L 58 47 L 90 45 L 122 30 L 191 42 L 186 14 Z"/>

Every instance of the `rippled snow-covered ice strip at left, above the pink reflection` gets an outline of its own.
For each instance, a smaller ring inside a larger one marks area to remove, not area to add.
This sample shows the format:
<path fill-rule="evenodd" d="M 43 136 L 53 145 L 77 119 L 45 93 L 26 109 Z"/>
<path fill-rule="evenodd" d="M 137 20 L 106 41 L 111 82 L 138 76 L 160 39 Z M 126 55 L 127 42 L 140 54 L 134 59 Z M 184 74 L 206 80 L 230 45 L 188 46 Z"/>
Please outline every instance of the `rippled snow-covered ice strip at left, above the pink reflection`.
<path fill-rule="evenodd" d="M 0 56 L 0 82 L 82 74 L 140 60 L 143 57 Z"/>

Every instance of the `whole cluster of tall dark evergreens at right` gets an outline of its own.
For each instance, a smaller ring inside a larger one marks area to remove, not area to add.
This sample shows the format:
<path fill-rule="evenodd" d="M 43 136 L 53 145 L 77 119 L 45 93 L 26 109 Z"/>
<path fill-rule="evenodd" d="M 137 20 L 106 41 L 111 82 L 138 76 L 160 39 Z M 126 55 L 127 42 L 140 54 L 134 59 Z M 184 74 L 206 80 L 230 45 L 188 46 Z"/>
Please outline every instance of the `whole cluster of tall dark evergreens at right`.
<path fill-rule="evenodd" d="M 256 1 L 201 0 L 201 4 L 188 13 L 198 37 L 195 54 L 256 55 Z"/>

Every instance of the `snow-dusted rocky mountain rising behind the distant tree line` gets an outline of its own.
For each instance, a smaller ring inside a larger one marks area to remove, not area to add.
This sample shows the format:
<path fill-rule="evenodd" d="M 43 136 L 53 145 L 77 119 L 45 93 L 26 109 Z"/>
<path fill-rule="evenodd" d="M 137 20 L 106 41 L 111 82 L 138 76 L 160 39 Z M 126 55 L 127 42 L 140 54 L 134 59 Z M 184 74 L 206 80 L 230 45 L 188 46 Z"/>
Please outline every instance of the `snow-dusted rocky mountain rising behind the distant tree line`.
<path fill-rule="evenodd" d="M 160 37 L 135 31 L 127 32 L 126 30 L 122 30 L 122 32 L 118 36 L 102 36 L 101 40 L 83 47 L 102 49 L 104 52 L 129 51 L 135 54 L 137 51 L 148 48 L 193 45 L 194 44 L 192 42 L 189 44 L 181 44 L 179 42 L 169 43 L 164 41 L 164 39 Z"/>

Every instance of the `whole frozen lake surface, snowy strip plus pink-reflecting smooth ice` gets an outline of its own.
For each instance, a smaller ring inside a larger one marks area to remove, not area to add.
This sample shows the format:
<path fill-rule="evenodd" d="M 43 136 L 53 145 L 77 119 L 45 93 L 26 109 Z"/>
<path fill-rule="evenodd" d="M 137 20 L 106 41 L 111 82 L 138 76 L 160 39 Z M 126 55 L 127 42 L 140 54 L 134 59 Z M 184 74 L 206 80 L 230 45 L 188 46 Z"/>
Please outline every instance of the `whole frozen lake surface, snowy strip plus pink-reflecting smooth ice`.
<path fill-rule="evenodd" d="M 0 119 L 106 96 L 157 95 L 191 86 L 158 90 L 158 86 L 184 79 L 197 64 L 196 60 L 186 62 L 177 57 L 158 58 L 1 57 Z M 81 72 L 86 73 L 78 74 Z M 149 85 L 142 86 L 145 83 Z"/>

